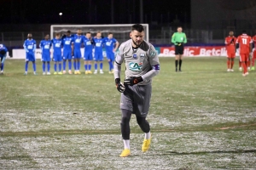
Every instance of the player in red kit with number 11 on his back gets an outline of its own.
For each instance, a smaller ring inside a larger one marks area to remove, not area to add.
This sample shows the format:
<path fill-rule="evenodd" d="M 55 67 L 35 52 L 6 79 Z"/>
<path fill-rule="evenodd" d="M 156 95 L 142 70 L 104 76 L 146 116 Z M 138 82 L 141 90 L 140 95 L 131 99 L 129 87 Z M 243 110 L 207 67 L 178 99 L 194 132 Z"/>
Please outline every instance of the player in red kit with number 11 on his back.
<path fill-rule="evenodd" d="M 252 42 L 252 37 L 248 36 L 246 31 L 242 31 L 241 36 L 236 39 L 236 48 L 239 46 L 240 60 L 243 67 L 243 77 L 246 77 L 249 74 L 246 62 L 252 52 Z"/>

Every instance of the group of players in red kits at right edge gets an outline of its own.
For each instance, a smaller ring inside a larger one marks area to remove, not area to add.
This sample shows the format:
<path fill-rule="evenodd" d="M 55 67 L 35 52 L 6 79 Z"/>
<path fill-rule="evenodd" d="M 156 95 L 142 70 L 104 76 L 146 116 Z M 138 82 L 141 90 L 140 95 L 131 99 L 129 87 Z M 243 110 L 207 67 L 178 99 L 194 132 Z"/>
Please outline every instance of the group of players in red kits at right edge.
<path fill-rule="evenodd" d="M 234 71 L 233 65 L 234 59 L 236 58 L 236 48 L 238 47 L 240 54 L 239 70 L 243 70 L 242 76 L 246 77 L 249 74 L 248 71 L 255 70 L 254 60 L 256 59 L 256 31 L 255 36 L 253 37 L 248 36 L 246 31 L 242 31 L 242 34 L 237 38 L 234 36 L 234 31 L 230 31 L 229 36 L 225 37 L 225 44 L 227 49 L 227 71 Z"/>

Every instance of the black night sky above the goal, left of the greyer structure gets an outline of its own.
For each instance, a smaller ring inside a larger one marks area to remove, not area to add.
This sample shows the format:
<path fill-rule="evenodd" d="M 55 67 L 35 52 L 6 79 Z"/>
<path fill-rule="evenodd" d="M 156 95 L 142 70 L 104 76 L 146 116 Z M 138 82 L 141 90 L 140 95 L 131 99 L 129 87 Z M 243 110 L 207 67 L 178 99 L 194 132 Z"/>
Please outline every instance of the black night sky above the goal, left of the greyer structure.
<path fill-rule="evenodd" d="M 112 24 L 111 0 L 1 0 L 0 4 L 2 24 Z M 113 0 L 113 24 L 140 22 L 139 5 L 139 0 Z M 144 23 L 160 22 L 161 14 L 163 23 L 176 15 L 189 23 L 190 0 L 143 0 Z"/>

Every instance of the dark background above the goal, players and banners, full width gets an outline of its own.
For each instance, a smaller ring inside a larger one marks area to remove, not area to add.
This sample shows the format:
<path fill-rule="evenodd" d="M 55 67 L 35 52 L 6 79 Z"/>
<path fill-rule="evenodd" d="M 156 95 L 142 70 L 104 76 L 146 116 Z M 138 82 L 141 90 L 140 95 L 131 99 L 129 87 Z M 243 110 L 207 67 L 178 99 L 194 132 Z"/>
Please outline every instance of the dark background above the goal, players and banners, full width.
<path fill-rule="evenodd" d="M 0 8 L 0 41 L 9 49 L 23 48 L 28 32 L 39 43 L 51 25 L 147 23 L 155 46 L 172 46 L 177 26 L 193 46 L 256 30 L 256 0 L 1 0 Z"/>

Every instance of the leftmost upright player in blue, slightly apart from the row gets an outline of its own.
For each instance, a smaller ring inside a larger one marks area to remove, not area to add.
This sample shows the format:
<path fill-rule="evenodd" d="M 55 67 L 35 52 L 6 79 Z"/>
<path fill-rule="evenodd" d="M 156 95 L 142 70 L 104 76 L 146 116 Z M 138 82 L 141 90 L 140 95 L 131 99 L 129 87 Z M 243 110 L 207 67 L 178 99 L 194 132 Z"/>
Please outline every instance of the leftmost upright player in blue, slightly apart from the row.
<path fill-rule="evenodd" d="M 32 61 L 34 75 L 37 75 L 37 69 L 36 69 L 36 57 L 35 57 L 35 51 L 37 48 L 37 42 L 32 39 L 32 34 L 27 34 L 27 39 L 25 40 L 23 47 L 26 51 L 26 64 L 25 64 L 25 73 L 24 75 L 27 75 L 27 67 L 28 62 Z"/>

